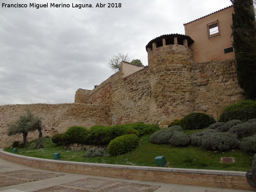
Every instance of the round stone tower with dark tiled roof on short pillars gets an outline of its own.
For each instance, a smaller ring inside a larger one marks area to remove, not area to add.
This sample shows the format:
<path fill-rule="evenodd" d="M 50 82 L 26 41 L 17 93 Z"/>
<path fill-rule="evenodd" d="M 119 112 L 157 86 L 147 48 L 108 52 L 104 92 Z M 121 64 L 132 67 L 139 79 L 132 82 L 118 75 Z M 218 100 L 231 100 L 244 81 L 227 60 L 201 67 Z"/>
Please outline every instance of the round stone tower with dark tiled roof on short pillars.
<path fill-rule="evenodd" d="M 191 69 L 194 62 L 189 36 L 170 34 L 151 40 L 148 52 L 150 121 L 166 127 L 194 111 Z"/>

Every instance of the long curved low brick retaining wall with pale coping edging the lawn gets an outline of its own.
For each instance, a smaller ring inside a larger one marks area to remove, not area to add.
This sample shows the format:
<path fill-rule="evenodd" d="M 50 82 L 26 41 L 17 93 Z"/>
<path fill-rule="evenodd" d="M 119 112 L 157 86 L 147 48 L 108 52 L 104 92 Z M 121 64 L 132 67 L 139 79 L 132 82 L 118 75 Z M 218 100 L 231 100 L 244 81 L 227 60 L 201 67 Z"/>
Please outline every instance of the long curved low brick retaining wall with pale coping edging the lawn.
<path fill-rule="evenodd" d="M 256 190 L 246 180 L 246 172 L 58 161 L 21 156 L 5 152 L 3 149 L 0 149 L 0 157 L 14 163 L 52 171 L 183 185 Z"/>

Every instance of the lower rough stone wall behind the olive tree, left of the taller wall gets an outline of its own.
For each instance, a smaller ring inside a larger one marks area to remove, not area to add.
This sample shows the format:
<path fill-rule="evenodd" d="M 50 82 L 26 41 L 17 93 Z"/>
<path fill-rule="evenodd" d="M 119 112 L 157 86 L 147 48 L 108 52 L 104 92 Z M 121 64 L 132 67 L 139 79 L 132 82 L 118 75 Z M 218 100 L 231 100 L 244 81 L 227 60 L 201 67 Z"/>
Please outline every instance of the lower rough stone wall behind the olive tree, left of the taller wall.
<path fill-rule="evenodd" d="M 65 132 L 70 126 L 90 128 L 101 124 L 112 124 L 109 105 L 63 103 L 63 104 L 24 104 L 0 106 L 0 148 L 9 147 L 15 140 L 22 141 L 20 136 L 7 136 L 8 124 L 15 122 L 25 109 L 30 108 L 33 114 L 43 118 L 43 137 Z M 38 138 L 38 131 L 28 133 L 28 141 Z"/>

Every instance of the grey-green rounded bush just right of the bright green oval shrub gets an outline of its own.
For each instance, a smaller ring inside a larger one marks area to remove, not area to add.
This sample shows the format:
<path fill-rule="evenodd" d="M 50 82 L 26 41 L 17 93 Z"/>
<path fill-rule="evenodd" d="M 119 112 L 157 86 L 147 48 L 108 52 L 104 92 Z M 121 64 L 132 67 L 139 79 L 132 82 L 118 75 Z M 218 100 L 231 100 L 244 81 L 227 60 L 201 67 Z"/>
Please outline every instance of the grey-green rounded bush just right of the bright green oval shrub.
<path fill-rule="evenodd" d="M 170 128 L 162 129 L 160 131 L 153 133 L 150 137 L 150 141 L 155 144 L 168 144 L 173 133 L 174 130 Z"/>

